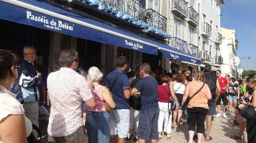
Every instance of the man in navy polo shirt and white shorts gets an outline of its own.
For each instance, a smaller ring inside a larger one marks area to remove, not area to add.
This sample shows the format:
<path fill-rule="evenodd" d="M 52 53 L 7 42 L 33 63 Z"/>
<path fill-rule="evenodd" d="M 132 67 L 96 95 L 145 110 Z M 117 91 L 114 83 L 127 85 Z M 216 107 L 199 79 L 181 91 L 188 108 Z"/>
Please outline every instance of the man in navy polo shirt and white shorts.
<path fill-rule="evenodd" d="M 124 72 L 127 68 L 126 57 L 118 57 L 115 70 L 106 76 L 106 86 L 112 91 L 115 101 L 115 109 L 109 114 L 111 142 L 115 142 L 115 135 L 118 135 L 118 143 L 125 143 L 129 133 L 131 92 L 128 77 Z"/>

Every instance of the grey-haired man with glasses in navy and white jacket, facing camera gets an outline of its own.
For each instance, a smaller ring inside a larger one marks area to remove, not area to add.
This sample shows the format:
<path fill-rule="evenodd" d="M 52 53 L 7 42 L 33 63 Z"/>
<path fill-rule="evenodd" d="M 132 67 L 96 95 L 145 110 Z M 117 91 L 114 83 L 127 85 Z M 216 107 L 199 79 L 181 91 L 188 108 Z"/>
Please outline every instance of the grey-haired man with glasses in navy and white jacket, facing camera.
<path fill-rule="evenodd" d="M 19 63 L 18 81 L 20 91 L 23 94 L 23 108 L 25 115 L 31 120 L 32 124 L 39 127 L 39 85 L 41 82 L 42 73 L 38 72 L 35 67 L 36 49 L 32 46 L 25 46 L 23 49 L 24 59 Z M 35 137 L 38 136 L 36 131 L 33 131 Z"/>

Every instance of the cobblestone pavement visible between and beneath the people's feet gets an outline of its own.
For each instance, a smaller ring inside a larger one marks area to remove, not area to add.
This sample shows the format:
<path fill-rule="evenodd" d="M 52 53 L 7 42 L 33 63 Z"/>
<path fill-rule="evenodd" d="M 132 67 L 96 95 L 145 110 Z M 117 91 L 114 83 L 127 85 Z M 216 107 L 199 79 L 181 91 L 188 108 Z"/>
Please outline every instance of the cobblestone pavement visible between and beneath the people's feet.
<path fill-rule="evenodd" d="M 234 139 L 230 138 L 231 136 L 236 135 L 236 133 L 238 132 L 238 126 L 228 123 L 227 119 L 224 119 L 222 117 L 214 118 L 213 124 L 212 124 L 212 130 L 210 131 L 210 136 L 213 139 L 210 141 L 205 141 L 203 138 L 202 142 L 205 142 L 205 143 L 214 143 L 214 142 L 243 143 L 243 142 L 247 142 L 246 131 L 244 131 L 241 140 L 234 140 Z M 43 142 L 47 142 L 47 124 L 48 124 L 47 119 L 41 121 L 40 129 L 43 133 Z M 163 136 L 163 138 L 160 139 L 158 142 L 159 143 L 187 142 L 187 140 L 188 140 L 188 130 L 187 129 L 188 129 L 187 124 L 181 125 L 180 128 L 172 128 L 172 133 L 171 133 L 172 137 L 170 139 L 167 139 L 166 136 Z M 127 141 L 127 142 L 134 142 L 134 141 Z"/>

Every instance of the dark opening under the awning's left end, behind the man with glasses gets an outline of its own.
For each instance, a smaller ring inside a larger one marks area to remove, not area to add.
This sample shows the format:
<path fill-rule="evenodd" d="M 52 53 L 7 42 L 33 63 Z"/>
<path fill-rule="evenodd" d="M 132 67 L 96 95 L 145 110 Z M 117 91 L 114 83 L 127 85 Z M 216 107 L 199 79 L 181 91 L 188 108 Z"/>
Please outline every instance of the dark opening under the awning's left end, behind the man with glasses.
<path fill-rule="evenodd" d="M 0 49 L 16 51 L 23 58 L 23 47 L 30 45 L 36 49 L 36 68 L 43 79 L 48 76 L 50 31 L 0 20 Z"/>

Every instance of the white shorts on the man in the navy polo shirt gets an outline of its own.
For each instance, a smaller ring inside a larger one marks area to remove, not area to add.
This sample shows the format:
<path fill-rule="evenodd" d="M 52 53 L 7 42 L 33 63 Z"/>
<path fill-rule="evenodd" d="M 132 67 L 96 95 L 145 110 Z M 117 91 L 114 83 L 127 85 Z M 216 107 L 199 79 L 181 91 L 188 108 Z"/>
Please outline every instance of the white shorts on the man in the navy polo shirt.
<path fill-rule="evenodd" d="M 112 110 L 109 113 L 110 135 L 118 135 L 120 138 L 125 138 L 129 133 L 130 110 Z"/>

